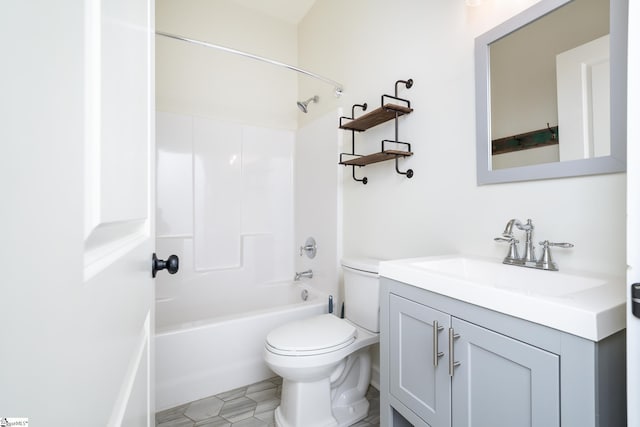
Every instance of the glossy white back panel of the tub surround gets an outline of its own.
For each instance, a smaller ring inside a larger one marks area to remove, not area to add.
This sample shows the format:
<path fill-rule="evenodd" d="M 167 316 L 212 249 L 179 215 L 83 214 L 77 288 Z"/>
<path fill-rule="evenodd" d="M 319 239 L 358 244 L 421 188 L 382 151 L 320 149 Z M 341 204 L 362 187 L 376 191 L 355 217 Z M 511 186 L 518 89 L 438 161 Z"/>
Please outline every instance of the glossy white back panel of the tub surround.
<path fill-rule="evenodd" d="M 158 239 L 189 240 L 183 265 L 209 272 L 240 269 L 243 238 L 270 236 L 263 280 L 288 279 L 293 132 L 158 112 L 157 140 Z"/>

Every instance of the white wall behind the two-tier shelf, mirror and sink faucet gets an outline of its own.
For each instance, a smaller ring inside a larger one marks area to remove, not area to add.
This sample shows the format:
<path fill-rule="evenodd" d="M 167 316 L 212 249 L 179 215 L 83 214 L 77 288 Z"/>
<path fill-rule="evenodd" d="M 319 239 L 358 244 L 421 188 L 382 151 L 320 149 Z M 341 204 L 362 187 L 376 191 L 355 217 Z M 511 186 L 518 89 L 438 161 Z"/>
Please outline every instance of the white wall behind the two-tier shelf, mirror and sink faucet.
<path fill-rule="evenodd" d="M 501 259 L 507 248 L 493 238 L 510 218 L 531 218 L 536 241 L 576 245 L 554 252 L 561 269 L 624 274 L 625 174 L 476 185 L 474 38 L 533 3 L 323 0 L 311 9 L 299 26 L 300 65 L 345 86 L 341 99 L 325 97 L 316 114 L 365 101 L 375 107 L 397 79 L 415 81 L 400 91 L 415 108 L 400 120 L 400 139 L 415 152 L 400 167 L 415 176 L 397 175 L 392 162 L 361 169 L 366 186 L 344 174 L 345 255 Z M 301 93 L 325 87 L 300 79 Z M 386 124 L 357 135 L 356 144 L 373 152 L 392 136 Z"/>

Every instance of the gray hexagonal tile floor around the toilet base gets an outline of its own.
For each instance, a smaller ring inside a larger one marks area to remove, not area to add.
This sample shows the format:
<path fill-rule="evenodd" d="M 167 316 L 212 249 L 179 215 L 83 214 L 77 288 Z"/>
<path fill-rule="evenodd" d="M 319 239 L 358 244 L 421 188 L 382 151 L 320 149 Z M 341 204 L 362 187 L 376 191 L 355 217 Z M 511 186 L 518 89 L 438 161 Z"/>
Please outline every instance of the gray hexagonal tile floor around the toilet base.
<path fill-rule="evenodd" d="M 282 378 L 274 377 L 220 393 L 156 414 L 157 427 L 266 427 L 274 426 L 280 404 Z M 380 426 L 380 395 L 369 387 L 369 415 L 357 427 Z M 303 426 L 301 426 L 303 427 Z"/>

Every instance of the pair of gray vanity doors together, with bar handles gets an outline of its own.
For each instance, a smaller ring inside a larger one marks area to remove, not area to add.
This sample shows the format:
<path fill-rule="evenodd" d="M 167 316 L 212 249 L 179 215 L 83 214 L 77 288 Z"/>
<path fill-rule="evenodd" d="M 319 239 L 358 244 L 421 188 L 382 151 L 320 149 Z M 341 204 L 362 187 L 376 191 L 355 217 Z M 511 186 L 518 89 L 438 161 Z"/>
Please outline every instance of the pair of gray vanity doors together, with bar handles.
<path fill-rule="evenodd" d="M 559 426 L 557 355 L 397 295 L 389 325 L 389 391 L 429 426 Z"/>

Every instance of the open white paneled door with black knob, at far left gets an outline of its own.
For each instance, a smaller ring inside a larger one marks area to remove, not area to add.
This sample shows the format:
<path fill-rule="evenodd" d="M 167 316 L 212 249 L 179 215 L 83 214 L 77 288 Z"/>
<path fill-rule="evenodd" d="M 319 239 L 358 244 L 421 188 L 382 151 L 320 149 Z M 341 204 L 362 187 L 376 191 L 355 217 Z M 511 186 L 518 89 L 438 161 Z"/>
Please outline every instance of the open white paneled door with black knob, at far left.
<path fill-rule="evenodd" d="M 153 0 L 0 13 L 0 419 L 153 425 Z"/>

